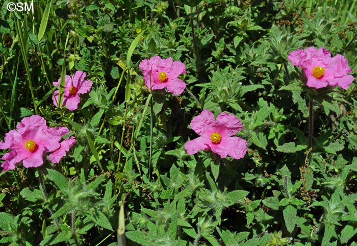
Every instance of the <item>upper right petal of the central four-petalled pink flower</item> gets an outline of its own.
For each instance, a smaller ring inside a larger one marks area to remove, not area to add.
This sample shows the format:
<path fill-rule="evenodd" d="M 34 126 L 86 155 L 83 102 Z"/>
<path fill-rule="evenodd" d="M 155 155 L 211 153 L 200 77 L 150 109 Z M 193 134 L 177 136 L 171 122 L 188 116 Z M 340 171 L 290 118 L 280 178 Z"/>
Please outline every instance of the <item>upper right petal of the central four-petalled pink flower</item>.
<path fill-rule="evenodd" d="M 223 138 L 225 138 L 231 137 L 241 131 L 243 125 L 237 116 L 223 112 L 217 116 L 213 127 Z"/>

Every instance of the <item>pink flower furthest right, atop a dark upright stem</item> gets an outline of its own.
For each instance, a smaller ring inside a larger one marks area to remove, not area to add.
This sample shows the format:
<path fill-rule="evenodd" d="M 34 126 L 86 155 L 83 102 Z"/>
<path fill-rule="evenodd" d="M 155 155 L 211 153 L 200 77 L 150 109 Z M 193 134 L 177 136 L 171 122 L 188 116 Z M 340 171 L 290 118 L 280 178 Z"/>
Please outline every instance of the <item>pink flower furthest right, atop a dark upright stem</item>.
<path fill-rule="evenodd" d="M 347 90 L 353 81 L 348 61 L 341 55 L 331 58 L 331 54 L 324 47 L 316 50 L 308 47 L 306 50 L 293 51 L 288 56 L 289 61 L 302 68 L 307 85 L 316 89 L 326 86 L 340 86 Z"/>

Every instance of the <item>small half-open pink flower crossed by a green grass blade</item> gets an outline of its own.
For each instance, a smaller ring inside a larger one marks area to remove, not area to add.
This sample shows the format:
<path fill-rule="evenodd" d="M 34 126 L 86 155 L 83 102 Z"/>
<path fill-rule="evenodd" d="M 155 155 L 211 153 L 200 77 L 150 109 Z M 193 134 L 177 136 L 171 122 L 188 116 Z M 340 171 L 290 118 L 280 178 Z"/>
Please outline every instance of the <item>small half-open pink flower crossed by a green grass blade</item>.
<path fill-rule="evenodd" d="M 69 77 L 66 75 L 66 82 L 64 86 L 64 95 L 63 95 L 63 102 L 62 106 L 66 106 L 68 110 L 75 110 L 78 108 L 78 104 L 80 103 L 79 94 L 84 94 L 90 91 L 92 88 L 92 81 L 84 80 L 87 73 L 82 71 L 77 71 L 74 75 Z M 53 85 L 56 86 L 60 84 L 61 78 L 58 79 L 57 82 L 53 82 Z M 55 96 L 52 96 L 52 100 L 55 106 L 58 107 L 58 95 L 60 90 L 55 91 Z M 55 99 L 56 97 L 56 99 Z M 57 101 L 56 101 L 57 100 Z"/>

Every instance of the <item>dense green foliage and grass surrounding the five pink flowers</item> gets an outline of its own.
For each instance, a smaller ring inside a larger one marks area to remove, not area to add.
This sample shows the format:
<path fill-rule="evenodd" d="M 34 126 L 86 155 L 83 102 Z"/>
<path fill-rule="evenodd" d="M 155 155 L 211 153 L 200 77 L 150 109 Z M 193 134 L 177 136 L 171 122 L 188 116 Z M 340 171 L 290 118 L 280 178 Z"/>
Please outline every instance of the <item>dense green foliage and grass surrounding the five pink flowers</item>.
<path fill-rule="evenodd" d="M 1 244 L 123 245 L 124 215 L 126 245 L 357 245 L 356 84 L 307 88 L 287 60 L 323 46 L 355 77 L 356 1 L 8 3 L 0 139 L 39 114 L 77 144 L 59 164 L 0 174 Z M 186 65 L 189 90 L 147 89 L 138 64 L 157 55 Z M 56 108 L 52 82 L 76 70 L 91 92 Z M 241 119 L 244 158 L 187 155 L 202 109 Z"/>

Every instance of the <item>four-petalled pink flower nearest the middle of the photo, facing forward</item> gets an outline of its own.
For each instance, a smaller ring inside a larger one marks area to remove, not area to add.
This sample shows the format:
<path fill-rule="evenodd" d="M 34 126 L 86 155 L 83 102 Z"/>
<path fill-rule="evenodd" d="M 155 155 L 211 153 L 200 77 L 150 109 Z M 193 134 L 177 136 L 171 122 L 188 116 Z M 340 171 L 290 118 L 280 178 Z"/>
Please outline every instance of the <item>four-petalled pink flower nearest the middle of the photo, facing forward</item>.
<path fill-rule="evenodd" d="M 221 158 L 231 156 L 240 159 L 247 151 L 247 142 L 244 139 L 232 137 L 243 127 L 239 118 L 233 114 L 223 112 L 215 120 L 213 113 L 205 109 L 192 119 L 190 126 L 200 137 L 185 144 L 189 155 L 199 150 L 211 150 Z"/>

